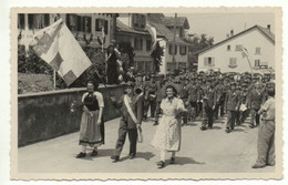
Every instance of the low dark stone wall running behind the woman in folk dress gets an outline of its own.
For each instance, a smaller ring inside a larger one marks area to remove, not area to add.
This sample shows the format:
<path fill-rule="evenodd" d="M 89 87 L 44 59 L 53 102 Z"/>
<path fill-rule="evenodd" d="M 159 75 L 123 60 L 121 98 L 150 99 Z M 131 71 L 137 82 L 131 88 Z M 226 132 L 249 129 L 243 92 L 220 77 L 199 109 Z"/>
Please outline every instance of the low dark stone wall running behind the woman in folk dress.
<path fill-rule="evenodd" d="M 100 88 L 104 97 L 104 120 L 120 116 L 110 93 L 120 97 L 123 86 Z M 79 131 L 82 111 L 71 112 L 73 101 L 81 101 L 85 89 L 69 89 L 18 95 L 18 146 Z"/>

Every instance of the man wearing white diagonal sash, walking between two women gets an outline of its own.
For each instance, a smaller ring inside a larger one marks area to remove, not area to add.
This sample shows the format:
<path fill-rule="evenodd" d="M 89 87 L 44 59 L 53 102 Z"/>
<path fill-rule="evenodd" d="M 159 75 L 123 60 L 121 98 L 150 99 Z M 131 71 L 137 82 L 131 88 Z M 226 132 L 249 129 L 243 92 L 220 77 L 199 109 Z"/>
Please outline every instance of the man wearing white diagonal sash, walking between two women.
<path fill-rule="evenodd" d="M 137 144 L 137 131 L 141 130 L 141 123 L 143 119 L 143 93 L 134 93 L 134 83 L 126 83 L 126 94 L 124 94 L 119 101 L 114 96 L 111 97 L 113 105 L 121 111 L 121 121 L 119 127 L 119 138 L 114 154 L 111 156 L 114 162 L 120 160 L 120 154 L 125 143 L 126 133 L 128 133 L 130 140 L 130 158 L 134 158 L 136 155 Z"/>

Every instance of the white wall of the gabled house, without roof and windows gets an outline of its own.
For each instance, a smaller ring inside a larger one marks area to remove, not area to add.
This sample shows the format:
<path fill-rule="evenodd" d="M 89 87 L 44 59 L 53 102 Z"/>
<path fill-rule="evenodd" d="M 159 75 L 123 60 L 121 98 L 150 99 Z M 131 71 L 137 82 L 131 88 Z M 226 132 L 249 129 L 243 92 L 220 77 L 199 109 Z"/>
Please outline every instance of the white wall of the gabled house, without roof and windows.
<path fill-rule="evenodd" d="M 243 58 L 241 51 L 235 51 L 236 44 L 243 44 L 248 50 L 251 65 L 255 66 L 255 60 L 267 62 L 268 68 L 275 69 L 275 45 L 264 35 L 258 29 L 254 29 L 243 35 L 239 35 L 230 41 L 224 42 L 215 48 L 198 54 L 198 71 L 209 69 L 220 69 L 222 72 L 246 72 L 250 71 L 246 58 Z M 227 45 L 230 45 L 230 51 L 227 51 Z M 256 48 L 260 47 L 260 54 L 255 54 Z M 205 58 L 215 58 L 215 66 L 204 66 Z M 237 59 L 237 66 L 229 68 L 229 59 Z"/>

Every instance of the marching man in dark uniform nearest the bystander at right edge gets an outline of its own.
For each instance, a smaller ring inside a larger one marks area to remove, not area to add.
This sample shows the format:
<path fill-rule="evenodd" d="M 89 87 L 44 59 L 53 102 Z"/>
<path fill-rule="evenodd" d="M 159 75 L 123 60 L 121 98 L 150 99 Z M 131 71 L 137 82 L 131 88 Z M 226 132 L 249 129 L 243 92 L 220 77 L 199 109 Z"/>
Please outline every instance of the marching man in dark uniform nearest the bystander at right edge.
<path fill-rule="evenodd" d="M 250 109 L 251 120 L 250 120 L 250 127 L 254 129 L 255 126 L 259 125 L 260 115 L 257 113 L 265 101 L 265 94 L 260 86 L 260 83 L 257 81 L 254 84 L 250 93 L 248 94 L 247 99 L 247 107 Z M 256 125 L 255 125 L 256 122 Z"/>

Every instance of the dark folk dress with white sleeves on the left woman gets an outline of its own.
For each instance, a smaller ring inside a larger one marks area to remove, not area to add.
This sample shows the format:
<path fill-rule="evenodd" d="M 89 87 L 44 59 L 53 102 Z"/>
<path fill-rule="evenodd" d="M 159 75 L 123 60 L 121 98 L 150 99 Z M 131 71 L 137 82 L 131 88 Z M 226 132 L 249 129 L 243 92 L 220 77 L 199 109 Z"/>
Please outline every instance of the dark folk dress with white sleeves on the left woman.
<path fill-rule="evenodd" d="M 89 109 L 90 113 L 83 112 L 80 125 L 80 145 L 99 146 L 104 144 L 104 120 L 97 125 L 99 110 L 103 106 L 103 97 L 99 92 L 85 93 L 83 95 L 83 104 Z"/>

